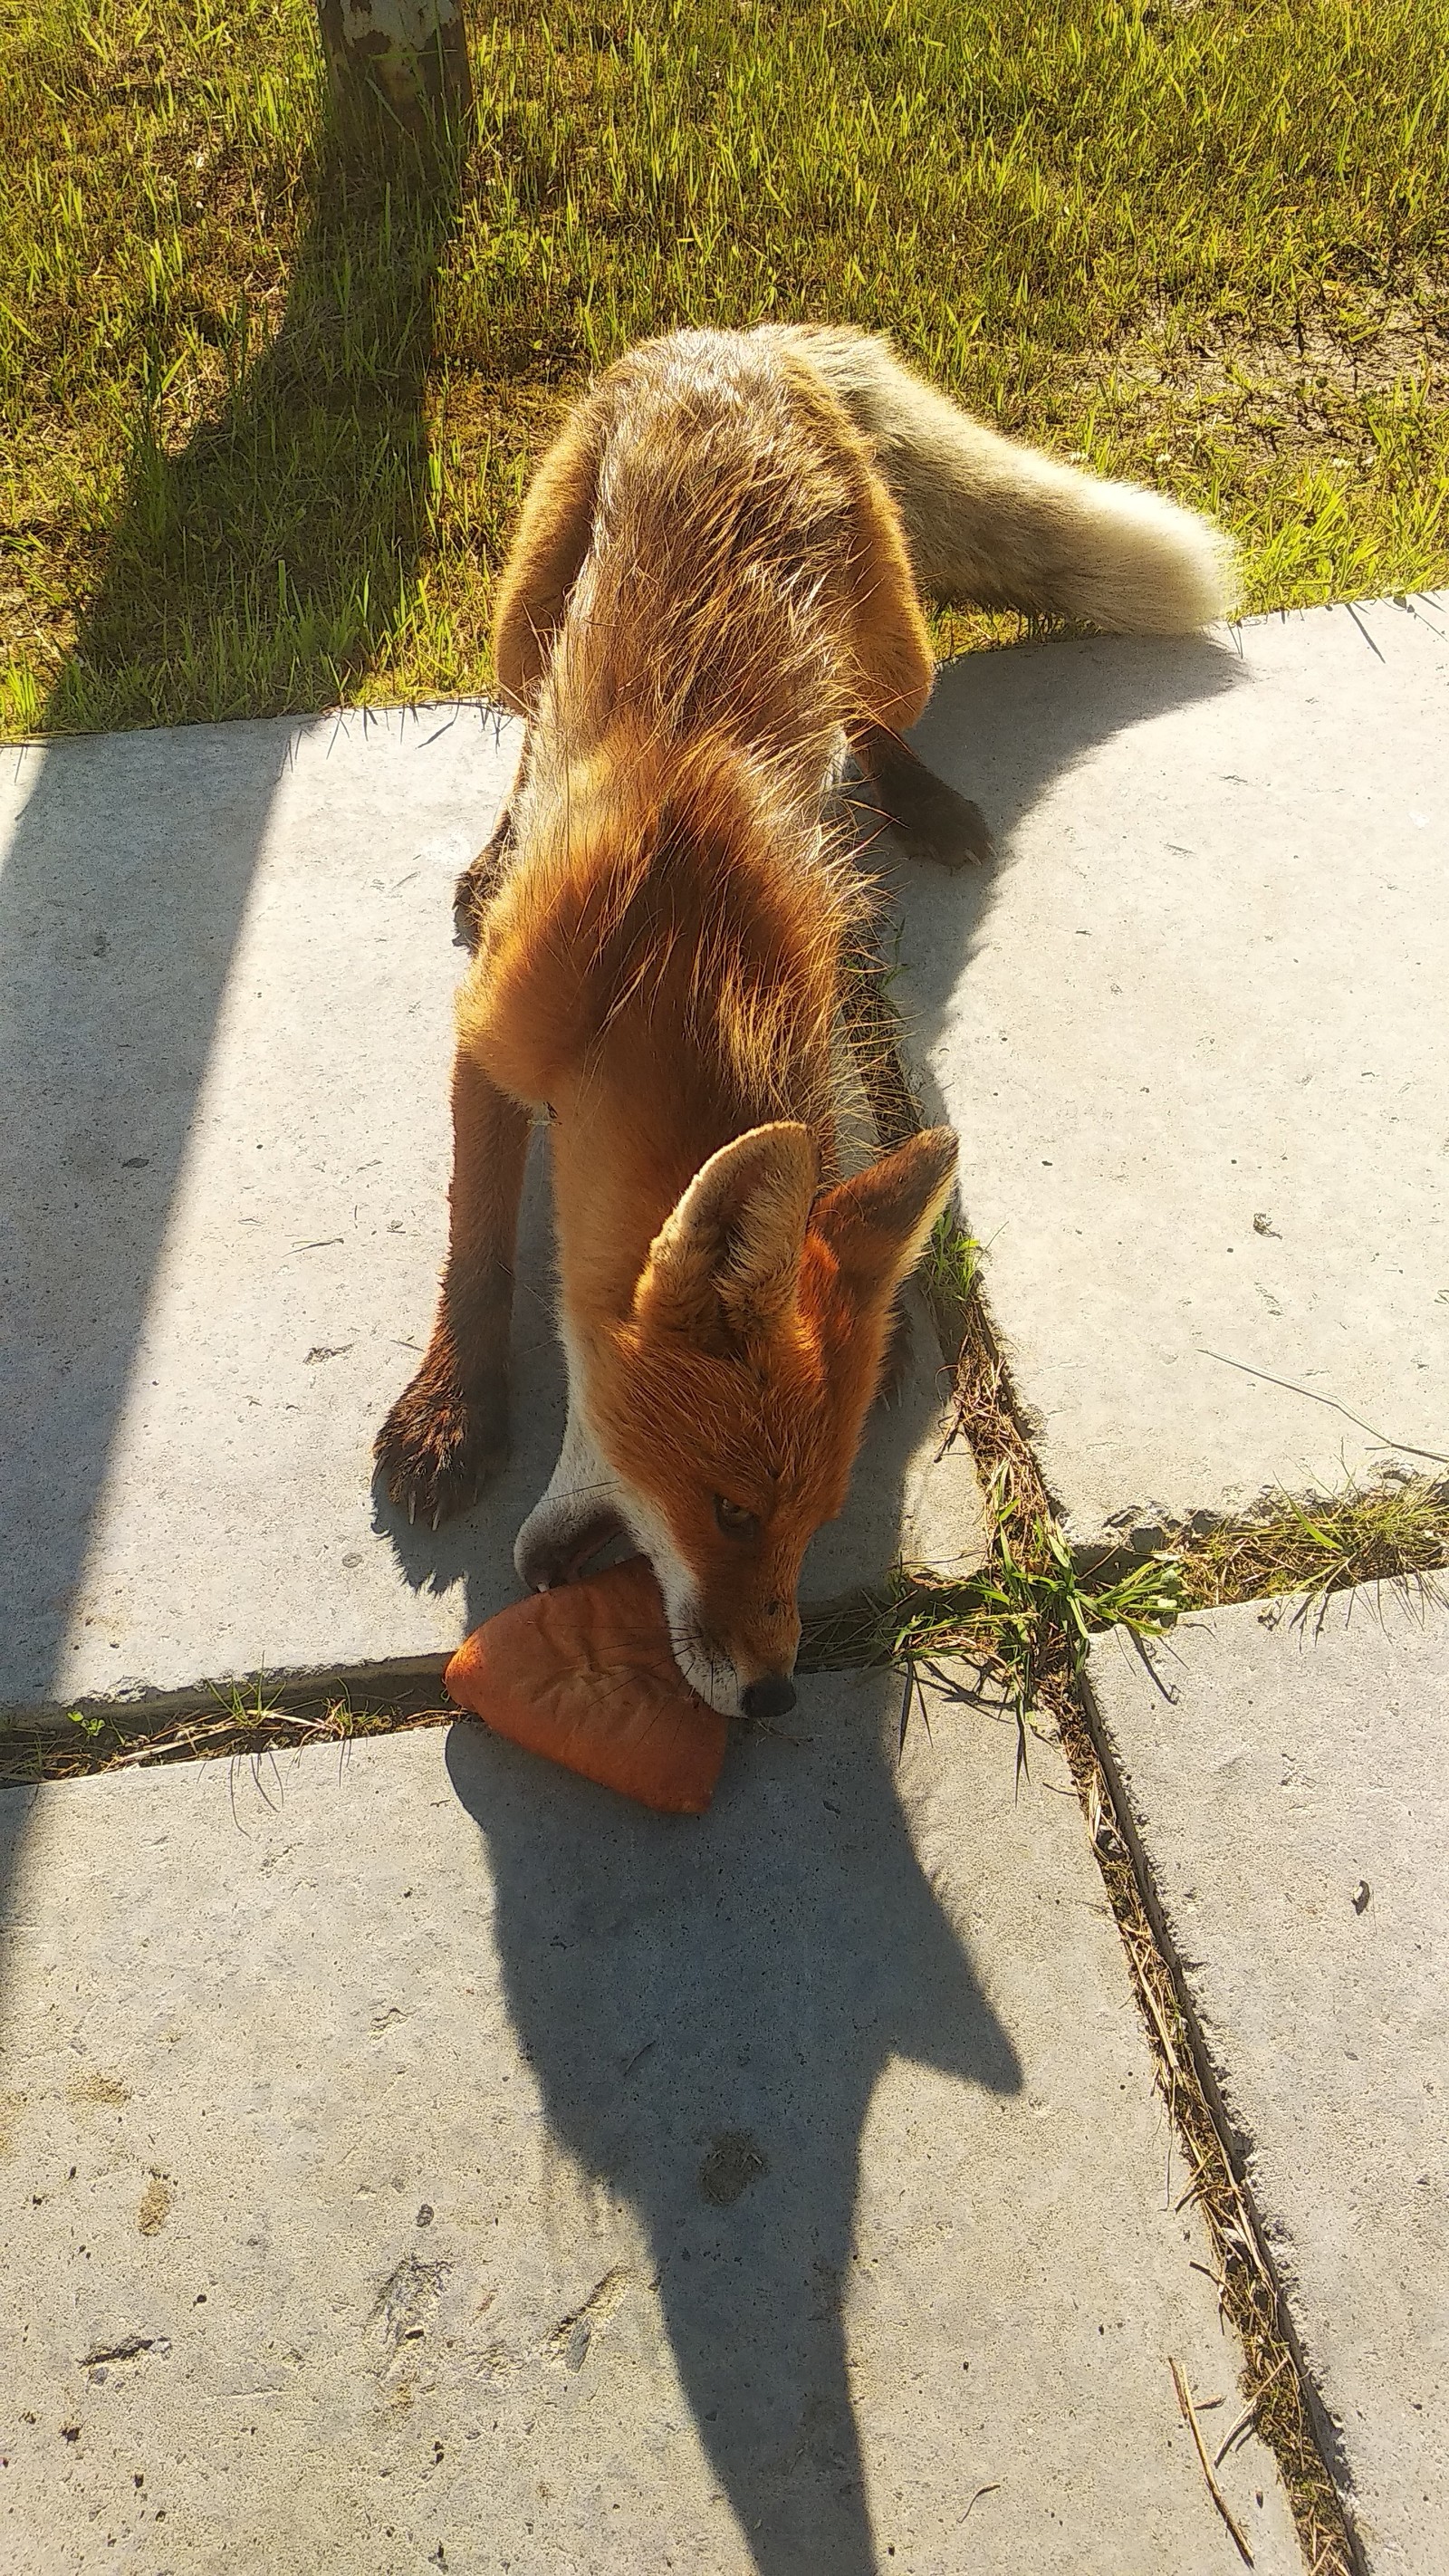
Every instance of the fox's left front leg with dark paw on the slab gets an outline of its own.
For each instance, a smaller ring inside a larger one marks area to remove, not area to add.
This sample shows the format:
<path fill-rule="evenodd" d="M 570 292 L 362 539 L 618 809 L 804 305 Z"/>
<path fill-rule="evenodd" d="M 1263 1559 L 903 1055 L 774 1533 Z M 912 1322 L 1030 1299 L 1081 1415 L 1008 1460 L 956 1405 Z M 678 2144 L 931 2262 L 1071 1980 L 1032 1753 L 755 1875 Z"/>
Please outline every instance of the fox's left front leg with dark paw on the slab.
<path fill-rule="evenodd" d="M 507 1461 L 507 1342 L 530 1110 L 466 1046 L 453 1061 L 448 1262 L 422 1368 L 396 1399 L 376 1461 L 409 1520 L 466 1512 Z"/>

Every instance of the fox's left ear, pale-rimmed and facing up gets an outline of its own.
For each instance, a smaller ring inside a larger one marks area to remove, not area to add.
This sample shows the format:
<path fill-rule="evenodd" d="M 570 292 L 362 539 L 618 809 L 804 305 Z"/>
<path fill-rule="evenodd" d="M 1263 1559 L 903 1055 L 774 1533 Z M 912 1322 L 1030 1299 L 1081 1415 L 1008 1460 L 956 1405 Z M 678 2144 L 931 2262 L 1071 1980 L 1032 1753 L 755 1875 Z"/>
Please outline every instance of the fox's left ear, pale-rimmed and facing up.
<path fill-rule="evenodd" d="M 770 1329 L 795 1298 L 816 1146 L 793 1118 L 710 1154 L 649 1247 L 636 1321 L 723 1350 Z"/>

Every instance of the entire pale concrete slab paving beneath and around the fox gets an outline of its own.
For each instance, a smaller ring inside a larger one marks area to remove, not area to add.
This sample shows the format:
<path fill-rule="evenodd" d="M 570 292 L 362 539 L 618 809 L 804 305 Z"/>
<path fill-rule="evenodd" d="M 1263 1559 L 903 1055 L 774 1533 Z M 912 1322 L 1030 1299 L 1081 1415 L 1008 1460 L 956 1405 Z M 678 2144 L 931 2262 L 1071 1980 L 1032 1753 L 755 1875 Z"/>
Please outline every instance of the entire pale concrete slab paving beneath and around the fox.
<path fill-rule="evenodd" d="M 1449 1458 L 1446 629 L 1372 603 L 942 675 L 921 750 L 999 863 L 898 871 L 893 992 L 1081 1546 Z M 512 1597 L 561 1427 L 540 1172 L 507 1479 L 440 1538 L 368 1486 L 443 1249 L 450 881 L 510 768 L 481 708 L 13 755 L 0 1708 L 386 1687 Z M 919 1319 L 808 1595 L 978 1558 L 942 1406 Z M 1094 1687 L 1400 2576 L 1444 2519 L 1444 2280 L 1413 2236 L 1398 2344 L 1372 2324 L 1434 2159 L 1367 2112 L 1439 2081 L 1444 1677 L 1434 1646 L 1395 1700 L 1387 1620 L 1305 1692 L 1256 1620 L 1184 1633 L 1176 1705 L 1112 1646 Z M 468 1726 L 8 1793 L 8 2563 L 1238 2566 L 1168 2375 L 1223 2434 L 1238 2354 L 1060 1752 L 1017 1801 L 1014 1731 L 950 1687 L 896 1734 L 898 1685 L 813 1680 L 685 1829 Z M 1325 2027 L 1392 2043 L 1364 2099 Z M 1261 2447 L 1220 2476 L 1292 2568 Z"/>

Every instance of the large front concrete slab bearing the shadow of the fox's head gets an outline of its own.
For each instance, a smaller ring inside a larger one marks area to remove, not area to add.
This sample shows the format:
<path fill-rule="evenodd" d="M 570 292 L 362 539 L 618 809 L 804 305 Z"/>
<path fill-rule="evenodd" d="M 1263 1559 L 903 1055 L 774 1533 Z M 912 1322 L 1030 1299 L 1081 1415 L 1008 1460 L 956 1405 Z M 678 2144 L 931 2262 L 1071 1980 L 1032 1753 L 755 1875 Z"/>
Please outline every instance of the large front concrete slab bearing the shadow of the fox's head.
<path fill-rule="evenodd" d="M 8 1793 L 13 2576 L 1228 2576 L 1063 1754 L 898 1703 L 811 1680 L 697 1824 L 463 1723 Z"/>

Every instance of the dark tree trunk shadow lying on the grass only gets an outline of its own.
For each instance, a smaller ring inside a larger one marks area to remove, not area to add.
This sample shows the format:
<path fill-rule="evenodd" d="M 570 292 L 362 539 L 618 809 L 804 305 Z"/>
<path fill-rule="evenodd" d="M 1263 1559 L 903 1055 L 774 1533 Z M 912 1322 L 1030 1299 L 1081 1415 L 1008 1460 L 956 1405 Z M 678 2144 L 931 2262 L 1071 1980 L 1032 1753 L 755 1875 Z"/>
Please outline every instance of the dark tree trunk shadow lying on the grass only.
<path fill-rule="evenodd" d="M 425 392 L 463 142 L 324 106 L 311 214 L 260 355 L 245 301 L 229 392 L 180 451 L 134 433 L 106 569 L 46 726 L 314 711 L 373 667 L 430 541 Z"/>

